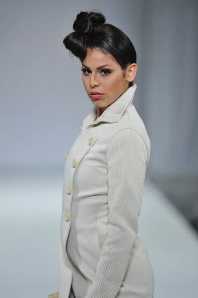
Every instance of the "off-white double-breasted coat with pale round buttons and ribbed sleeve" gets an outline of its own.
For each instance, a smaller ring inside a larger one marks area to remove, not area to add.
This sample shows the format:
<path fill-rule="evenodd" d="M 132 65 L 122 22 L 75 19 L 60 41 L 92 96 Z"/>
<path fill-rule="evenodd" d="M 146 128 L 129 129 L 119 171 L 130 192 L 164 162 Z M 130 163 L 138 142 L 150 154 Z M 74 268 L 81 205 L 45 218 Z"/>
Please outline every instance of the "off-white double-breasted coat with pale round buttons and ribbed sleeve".
<path fill-rule="evenodd" d="M 137 235 L 150 140 L 132 104 L 135 89 L 96 121 L 94 106 L 66 156 L 59 298 L 153 298 Z"/>

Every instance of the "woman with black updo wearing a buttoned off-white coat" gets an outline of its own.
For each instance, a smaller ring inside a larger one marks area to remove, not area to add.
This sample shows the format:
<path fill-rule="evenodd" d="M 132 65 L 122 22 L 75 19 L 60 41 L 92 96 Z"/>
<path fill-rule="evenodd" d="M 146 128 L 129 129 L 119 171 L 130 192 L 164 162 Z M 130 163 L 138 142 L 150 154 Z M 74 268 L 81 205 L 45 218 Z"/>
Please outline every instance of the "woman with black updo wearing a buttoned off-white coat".
<path fill-rule="evenodd" d="M 94 11 L 80 12 L 66 49 L 82 63 L 94 104 L 66 154 L 59 298 L 152 298 L 153 270 L 137 235 L 150 140 L 132 99 L 130 39 Z"/>

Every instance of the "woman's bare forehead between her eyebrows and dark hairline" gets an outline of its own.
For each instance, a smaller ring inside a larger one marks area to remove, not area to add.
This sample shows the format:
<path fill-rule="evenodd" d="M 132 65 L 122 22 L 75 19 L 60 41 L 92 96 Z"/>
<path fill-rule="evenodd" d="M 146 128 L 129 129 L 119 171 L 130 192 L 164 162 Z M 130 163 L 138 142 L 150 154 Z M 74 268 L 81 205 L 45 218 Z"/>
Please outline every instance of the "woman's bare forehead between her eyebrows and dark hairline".
<path fill-rule="evenodd" d="M 87 54 L 85 59 L 82 61 L 83 64 L 92 67 L 100 67 L 101 65 L 108 64 L 108 65 L 118 65 L 115 58 L 110 55 L 109 53 L 104 53 L 98 49 L 87 49 Z"/>

